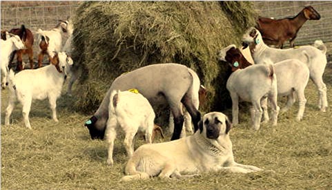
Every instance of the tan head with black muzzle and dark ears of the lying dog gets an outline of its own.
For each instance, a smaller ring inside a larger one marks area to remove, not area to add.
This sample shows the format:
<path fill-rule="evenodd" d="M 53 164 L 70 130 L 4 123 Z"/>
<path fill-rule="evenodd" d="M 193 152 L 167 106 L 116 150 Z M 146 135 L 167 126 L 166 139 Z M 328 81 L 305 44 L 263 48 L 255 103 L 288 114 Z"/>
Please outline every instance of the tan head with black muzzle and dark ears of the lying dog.
<path fill-rule="evenodd" d="M 215 140 L 221 135 L 228 135 L 232 128 L 228 117 L 220 112 L 206 113 L 198 125 L 200 133 L 205 134 L 209 139 Z"/>

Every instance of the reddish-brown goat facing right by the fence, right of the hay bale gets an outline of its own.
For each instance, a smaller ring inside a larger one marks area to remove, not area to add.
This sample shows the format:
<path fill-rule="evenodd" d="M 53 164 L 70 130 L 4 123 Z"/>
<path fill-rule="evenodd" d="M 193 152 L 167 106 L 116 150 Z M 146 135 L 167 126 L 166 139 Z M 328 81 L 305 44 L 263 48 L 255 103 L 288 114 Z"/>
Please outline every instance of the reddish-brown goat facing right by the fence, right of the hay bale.
<path fill-rule="evenodd" d="M 259 17 L 256 21 L 257 30 L 260 30 L 264 43 L 282 48 L 286 40 L 289 40 L 291 48 L 294 47 L 294 40 L 297 32 L 307 20 L 319 20 L 320 14 L 312 6 L 306 6 L 295 17 L 284 19 L 269 19 Z"/>

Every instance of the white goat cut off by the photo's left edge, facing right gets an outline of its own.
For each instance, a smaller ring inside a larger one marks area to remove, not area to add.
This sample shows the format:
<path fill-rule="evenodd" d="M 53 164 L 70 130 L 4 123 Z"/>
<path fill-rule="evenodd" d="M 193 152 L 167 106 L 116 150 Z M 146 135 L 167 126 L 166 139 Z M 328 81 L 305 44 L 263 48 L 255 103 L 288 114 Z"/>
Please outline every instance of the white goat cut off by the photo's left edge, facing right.
<path fill-rule="evenodd" d="M 11 35 L 8 32 L 6 32 L 6 35 L 9 37 L 6 40 L 1 40 L 1 86 L 3 89 L 6 88 L 6 80 L 7 80 L 7 73 L 9 71 L 8 64 L 10 59 L 10 54 L 14 52 L 14 50 L 21 50 L 26 48 L 26 46 L 23 44 L 23 41 L 19 38 L 17 35 Z"/>

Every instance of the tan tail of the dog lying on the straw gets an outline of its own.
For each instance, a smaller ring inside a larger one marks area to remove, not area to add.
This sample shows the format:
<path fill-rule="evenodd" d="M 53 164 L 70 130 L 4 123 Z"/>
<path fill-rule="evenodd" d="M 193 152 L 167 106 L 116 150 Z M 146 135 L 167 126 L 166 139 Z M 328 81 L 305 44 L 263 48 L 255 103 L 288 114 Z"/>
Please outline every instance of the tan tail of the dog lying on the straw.
<path fill-rule="evenodd" d="M 135 159 L 130 158 L 126 164 L 126 176 L 121 178 L 121 181 L 131 181 L 131 180 L 144 180 L 150 178 L 150 175 L 146 172 L 140 172 L 136 170 Z"/>

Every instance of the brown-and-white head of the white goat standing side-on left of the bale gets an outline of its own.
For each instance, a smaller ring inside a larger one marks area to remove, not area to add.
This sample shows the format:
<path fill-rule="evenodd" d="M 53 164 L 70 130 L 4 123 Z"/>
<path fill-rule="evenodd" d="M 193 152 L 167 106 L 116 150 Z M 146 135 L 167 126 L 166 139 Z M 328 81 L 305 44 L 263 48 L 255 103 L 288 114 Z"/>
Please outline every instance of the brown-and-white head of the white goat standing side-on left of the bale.
<path fill-rule="evenodd" d="M 51 64 L 53 64 L 55 68 L 57 68 L 57 71 L 59 73 L 64 72 L 65 75 L 68 75 L 68 73 L 70 73 L 70 66 L 72 66 L 73 62 L 72 58 L 70 58 L 70 56 L 67 53 L 55 52 L 55 55 L 52 56 Z"/>

